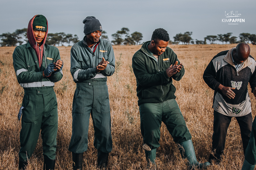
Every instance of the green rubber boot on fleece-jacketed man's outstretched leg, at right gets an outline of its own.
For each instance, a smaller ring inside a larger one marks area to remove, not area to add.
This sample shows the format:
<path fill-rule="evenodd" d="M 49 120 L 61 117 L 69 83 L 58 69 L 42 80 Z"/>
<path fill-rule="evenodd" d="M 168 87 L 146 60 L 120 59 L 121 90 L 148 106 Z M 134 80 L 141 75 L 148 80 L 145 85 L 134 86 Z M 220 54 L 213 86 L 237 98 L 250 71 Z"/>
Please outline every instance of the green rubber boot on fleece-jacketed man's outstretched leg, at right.
<path fill-rule="evenodd" d="M 199 169 L 207 169 L 207 166 L 210 166 L 209 162 L 199 163 L 196 160 L 196 154 L 194 150 L 194 146 L 192 140 L 187 140 L 185 142 L 181 142 L 179 146 L 180 154 L 183 159 L 188 159 L 189 169 L 192 169 L 193 166 Z"/>

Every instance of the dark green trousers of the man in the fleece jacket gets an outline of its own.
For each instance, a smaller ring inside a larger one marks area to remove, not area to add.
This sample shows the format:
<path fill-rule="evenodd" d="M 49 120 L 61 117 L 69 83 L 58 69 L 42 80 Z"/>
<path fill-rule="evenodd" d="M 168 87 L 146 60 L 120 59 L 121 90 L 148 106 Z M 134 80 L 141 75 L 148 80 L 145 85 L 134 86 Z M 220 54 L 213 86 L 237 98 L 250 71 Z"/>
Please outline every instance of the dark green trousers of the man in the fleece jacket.
<path fill-rule="evenodd" d="M 151 149 L 160 146 L 160 126 L 164 122 L 174 142 L 191 139 L 186 122 L 175 99 L 140 104 L 140 130 L 143 142 Z"/>

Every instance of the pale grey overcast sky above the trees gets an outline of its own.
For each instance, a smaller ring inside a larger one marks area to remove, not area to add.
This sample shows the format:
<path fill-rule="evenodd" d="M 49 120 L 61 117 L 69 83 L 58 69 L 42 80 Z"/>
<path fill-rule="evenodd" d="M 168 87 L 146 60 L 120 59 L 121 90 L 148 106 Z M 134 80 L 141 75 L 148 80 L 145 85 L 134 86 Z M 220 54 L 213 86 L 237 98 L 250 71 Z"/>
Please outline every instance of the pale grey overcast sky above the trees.
<path fill-rule="evenodd" d="M 27 28 L 34 15 L 42 14 L 48 20 L 48 33 L 77 34 L 80 40 L 87 16 L 99 19 L 110 40 L 122 27 L 129 28 L 129 33 L 142 33 L 142 41 L 150 40 L 160 27 L 168 31 L 172 41 L 177 33 L 187 31 L 193 32 L 194 40 L 224 33 L 238 37 L 240 33 L 256 33 L 255 7 L 255 0 L 1 0 L 0 34 Z M 237 17 L 228 17 L 231 11 Z M 230 18 L 244 22 L 222 22 Z"/>

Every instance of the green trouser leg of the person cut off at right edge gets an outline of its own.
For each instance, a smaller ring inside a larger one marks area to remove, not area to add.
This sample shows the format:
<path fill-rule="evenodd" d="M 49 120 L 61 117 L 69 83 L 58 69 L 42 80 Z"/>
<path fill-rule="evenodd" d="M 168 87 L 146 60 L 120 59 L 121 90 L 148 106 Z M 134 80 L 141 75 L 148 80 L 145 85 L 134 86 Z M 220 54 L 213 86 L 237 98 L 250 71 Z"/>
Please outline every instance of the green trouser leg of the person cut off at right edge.
<path fill-rule="evenodd" d="M 252 132 L 250 135 L 249 144 L 245 150 L 244 159 L 251 165 L 256 164 L 256 119 L 252 122 Z"/>

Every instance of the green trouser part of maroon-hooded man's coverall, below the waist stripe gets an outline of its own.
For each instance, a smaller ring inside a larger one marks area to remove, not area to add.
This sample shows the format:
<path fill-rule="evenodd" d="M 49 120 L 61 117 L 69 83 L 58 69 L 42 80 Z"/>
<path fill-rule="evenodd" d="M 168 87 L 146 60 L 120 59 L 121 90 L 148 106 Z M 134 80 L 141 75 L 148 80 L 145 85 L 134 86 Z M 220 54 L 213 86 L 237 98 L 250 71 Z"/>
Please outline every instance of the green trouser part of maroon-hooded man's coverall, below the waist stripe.
<path fill-rule="evenodd" d="M 40 134 L 43 155 L 55 159 L 58 130 L 58 106 L 53 88 L 25 91 L 22 106 L 19 159 L 29 159 Z"/>

